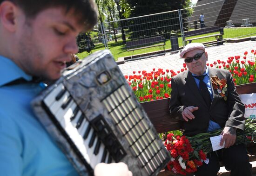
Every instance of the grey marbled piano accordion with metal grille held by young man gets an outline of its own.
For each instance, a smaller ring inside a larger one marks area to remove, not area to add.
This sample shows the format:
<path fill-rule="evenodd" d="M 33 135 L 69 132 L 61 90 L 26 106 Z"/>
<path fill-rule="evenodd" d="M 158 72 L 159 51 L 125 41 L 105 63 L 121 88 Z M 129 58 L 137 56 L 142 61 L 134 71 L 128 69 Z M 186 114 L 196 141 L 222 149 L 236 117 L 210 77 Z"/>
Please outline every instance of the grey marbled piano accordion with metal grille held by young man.
<path fill-rule="evenodd" d="M 108 50 L 74 63 L 32 101 L 37 118 L 83 176 L 124 162 L 156 176 L 170 156 Z"/>

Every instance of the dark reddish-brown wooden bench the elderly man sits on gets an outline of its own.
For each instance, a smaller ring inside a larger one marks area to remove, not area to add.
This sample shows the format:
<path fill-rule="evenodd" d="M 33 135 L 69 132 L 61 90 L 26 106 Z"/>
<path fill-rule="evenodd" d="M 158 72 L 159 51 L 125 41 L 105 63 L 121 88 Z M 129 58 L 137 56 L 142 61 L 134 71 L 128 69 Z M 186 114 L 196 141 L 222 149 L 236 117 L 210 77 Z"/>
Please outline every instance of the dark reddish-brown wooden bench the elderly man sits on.
<path fill-rule="evenodd" d="M 238 94 L 256 93 L 256 82 L 238 85 L 236 86 L 236 90 Z M 141 103 L 158 133 L 180 130 L 183 128 L 181 121 L 170 118 L 168 112 L 169 100 L 170 99 L 167 98 Z M 256 161 L 256 145 L 248 145 L 247 150 L 252 154 L 249 155 L 249 161 Z M 223 163 L 220 162 L 220 165 L 223 166 Z M 164 172 L 160 172 L 159 176 L 175 176 L 175 174 L 166 169 Z"/>

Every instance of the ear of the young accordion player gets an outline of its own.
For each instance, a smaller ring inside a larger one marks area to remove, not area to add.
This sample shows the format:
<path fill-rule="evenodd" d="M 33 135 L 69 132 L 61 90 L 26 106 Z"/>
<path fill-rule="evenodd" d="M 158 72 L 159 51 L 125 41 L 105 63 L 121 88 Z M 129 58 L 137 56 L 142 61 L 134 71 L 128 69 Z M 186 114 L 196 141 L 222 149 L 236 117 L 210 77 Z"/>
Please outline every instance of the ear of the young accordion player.
<path fill-rule="evenodd" d="M 0 23 L 8 31 L 13 32 L 16 29 L 17 6 L 11 1 L 3 1 L 0 4 Z"/>

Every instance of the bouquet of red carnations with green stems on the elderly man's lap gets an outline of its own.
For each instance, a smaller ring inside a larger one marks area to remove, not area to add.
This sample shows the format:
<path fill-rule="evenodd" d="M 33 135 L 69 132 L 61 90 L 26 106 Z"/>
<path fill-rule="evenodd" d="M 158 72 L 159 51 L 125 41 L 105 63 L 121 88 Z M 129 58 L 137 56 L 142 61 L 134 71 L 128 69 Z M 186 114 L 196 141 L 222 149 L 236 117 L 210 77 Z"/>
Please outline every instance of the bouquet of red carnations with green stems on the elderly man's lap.
<path fill-rule="evenodd" d="M 196 172 L 202 163 L 209 163 L 207 153 L 212 151 L 210 137 L 220 135 L 222 129 L 209 133 L 200 133 L 193 137 L 167 135 L 165 147 L 170 152 L 171 161 L 167 164 L 168 170 L 177 174 L 186 175 Z M 256 143 L 256 119 L 247 119 L 244 131 L 236 133 L 236 143 Z"/>

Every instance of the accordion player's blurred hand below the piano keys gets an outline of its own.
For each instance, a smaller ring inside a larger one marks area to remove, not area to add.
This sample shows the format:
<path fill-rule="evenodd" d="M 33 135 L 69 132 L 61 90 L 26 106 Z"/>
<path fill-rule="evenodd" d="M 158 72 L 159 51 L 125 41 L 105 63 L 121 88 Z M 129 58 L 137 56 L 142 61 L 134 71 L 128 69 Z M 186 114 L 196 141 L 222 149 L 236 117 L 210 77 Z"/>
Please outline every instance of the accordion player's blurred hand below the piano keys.
<path fill-rule="evenodd" d="M 98 163 L 94 169 L 94 176 L 132 176 L 125 163 Z"/>

